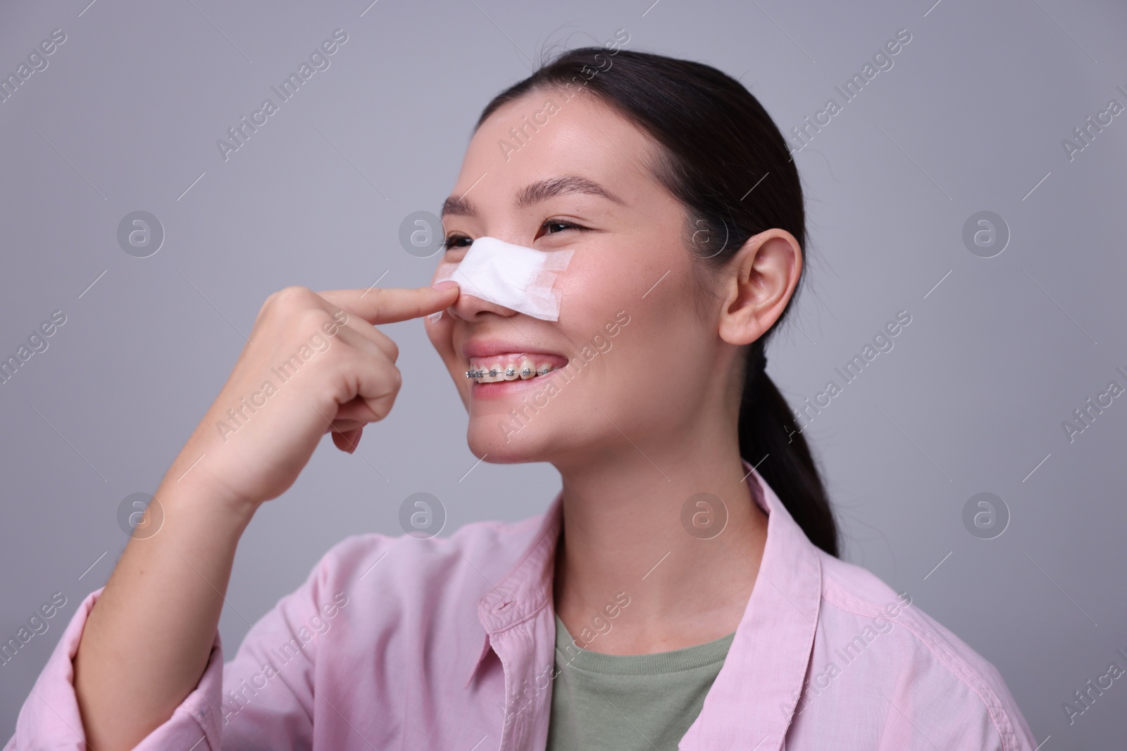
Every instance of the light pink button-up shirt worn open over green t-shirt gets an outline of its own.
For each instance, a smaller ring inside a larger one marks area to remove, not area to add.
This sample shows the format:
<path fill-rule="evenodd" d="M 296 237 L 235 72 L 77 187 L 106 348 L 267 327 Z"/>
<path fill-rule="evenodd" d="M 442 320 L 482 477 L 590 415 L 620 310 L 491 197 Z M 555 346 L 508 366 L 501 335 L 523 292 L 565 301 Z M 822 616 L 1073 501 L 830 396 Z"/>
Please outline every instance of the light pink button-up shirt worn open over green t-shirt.
<path fill-rule="evenodd" d="M 766 546 L 681 749 L 1032 751 L 991 663 L 907 594 L 815 547 L 744 467 Z M 560 524 L 558 495 L 542 516 L 450 538 L 344 539 L 225 664 L 216 633 L 198 686 L 137 751 L 543 749 Z M 85 750 L 71 659 L 100 591 L 72 617 L 6 751 Z"/>

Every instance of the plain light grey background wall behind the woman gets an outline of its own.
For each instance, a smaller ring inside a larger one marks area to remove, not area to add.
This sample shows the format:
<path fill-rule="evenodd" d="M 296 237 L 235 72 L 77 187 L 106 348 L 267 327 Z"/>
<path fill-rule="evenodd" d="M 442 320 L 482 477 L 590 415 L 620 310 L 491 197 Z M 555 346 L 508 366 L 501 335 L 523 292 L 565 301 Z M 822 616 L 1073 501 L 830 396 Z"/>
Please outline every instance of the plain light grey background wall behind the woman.
<path fill-rule="evenodd" d="M 1109 99 L 1127 106 L 1121 2 L 88 1 L 0 9 L 5 75 L 66 34 L 0 104 L 0 355 L 66 315 L 0 385 L 0 638 L 52 592 L 68 600 L 0 667 L 0 737 L 124 547 L 118 503 L 156 489 L 263 299 L 425 284 L 434 259 L 403 252 L 400 221 L 437 211 L 480 109 L 545 45 L 624 28 L 629 50 L 742 77 L 786 133 L 907 28 L 894 68 L 796 157 L 810 286 L 769 369 L 798 406 L 911 313 L 807 430 L 844 557 L 992 661 L 1046 751 L 1122 746 L 1127 679 L 1072 725 L 1062 708 L 1110 662 L 1127 668 L 1127 396 L 1072 442 L 1062 428 L 1109 381 L 1127 386 L 1127 114 L 1074 160 L 1062 147 Z M 224 162 L 216 140 L 337 28 L 330 68 Z M 167 233 L 145 259 L 116 240 L 139 209 Z M 988 259 L 961 239 L 984 209 L 1012 234 Z M 548 465 L 474 467 L 421 323 L 387 331 L 402 351 L 396 410 L 357 455 L 326 437 L 258 513 L 220 626 L 232 654 L 332 544 L 400 534 L 408 494 L 442 499 L 449 533 L 538 513 L 558 490 Z M 1010 509 L 995 539 L 962 524 L 983 491 Z"/>

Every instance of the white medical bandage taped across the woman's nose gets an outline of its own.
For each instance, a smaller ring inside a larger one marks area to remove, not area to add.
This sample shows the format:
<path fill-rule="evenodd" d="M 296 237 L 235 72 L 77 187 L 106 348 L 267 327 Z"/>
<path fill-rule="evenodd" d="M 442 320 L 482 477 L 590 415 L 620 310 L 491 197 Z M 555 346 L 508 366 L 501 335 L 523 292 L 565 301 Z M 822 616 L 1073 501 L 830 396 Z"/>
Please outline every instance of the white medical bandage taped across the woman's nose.
<path fill-rule="evenodd" d="M 557 272 L 571 262 L 573 250 L 536 250 L 497 238 L 478 238 L 460 262 L 438 265 L 435 283 L 453 279 L 462 294 L 544 321 L 559 321 Z"/>

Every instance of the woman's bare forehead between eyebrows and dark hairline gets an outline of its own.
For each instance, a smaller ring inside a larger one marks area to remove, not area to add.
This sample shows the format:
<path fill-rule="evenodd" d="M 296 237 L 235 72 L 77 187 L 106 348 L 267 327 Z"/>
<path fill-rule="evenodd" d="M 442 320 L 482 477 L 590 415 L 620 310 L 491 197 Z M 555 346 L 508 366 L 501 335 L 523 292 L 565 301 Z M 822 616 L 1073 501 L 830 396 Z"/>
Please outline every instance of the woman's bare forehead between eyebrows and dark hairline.
<path fill-rule="evenodd" d="M 473 134 L 452 198 L 480 205 L 516 196 L 520 207 L 534 203 L 530 185 L 565 176 L 579 178 L 567 193 L 597 195 L 582 185 L 586 180 L 623 203 L 653 197 L 647 194 L 663 190 L 650 169 L 656 153 L 647 134 L 595 95 L 531 91 L 499 107 Z M 446 206 L 458 212 L 459 203 Z"/>

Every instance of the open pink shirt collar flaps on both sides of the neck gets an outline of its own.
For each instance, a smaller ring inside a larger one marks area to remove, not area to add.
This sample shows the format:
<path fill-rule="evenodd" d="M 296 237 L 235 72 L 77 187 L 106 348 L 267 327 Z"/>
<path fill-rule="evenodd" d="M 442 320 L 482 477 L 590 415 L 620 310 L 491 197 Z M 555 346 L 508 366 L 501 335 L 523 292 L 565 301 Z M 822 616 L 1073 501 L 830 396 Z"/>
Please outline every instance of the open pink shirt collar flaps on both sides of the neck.
<path fill-rule="evenodd" d="M 780 749 L 814 645 L 822 602 L 818 549 L 763 476 L 743 465 L 752 498 L 767 515 L 766 543 L 752 597 L 684 749 Z M 491 651 L 490 634 L 551 604 L 562 501 L 560 492 L 520 561 L 478 604 L 486 634 L 467 686 Z"/>

